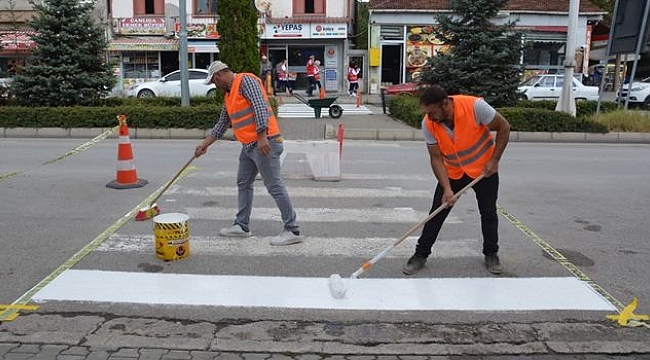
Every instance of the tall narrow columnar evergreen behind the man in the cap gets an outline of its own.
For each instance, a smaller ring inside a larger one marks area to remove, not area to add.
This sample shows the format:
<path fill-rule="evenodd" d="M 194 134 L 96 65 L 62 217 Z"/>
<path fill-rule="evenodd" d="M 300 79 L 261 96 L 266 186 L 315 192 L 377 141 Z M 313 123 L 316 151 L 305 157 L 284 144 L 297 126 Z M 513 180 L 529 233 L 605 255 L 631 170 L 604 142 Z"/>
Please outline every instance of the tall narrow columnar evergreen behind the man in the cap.
<path fill-rule="evenodd" d="M 257 74 L 260 66 L 257 10 L 252 0 L 219 2 L 219 59 L 235 72 Z"/>

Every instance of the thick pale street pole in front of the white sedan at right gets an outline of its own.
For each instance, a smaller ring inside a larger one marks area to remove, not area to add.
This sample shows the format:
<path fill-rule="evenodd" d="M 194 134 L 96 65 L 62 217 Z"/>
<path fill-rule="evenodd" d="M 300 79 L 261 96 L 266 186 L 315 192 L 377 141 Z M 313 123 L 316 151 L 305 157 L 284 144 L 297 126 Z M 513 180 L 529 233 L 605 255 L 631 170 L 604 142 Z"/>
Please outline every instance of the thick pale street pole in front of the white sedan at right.
<path fill-rule="evenodd" d="M 556 111 L 564 111 L 576 115 L 576 102 L 573 96 L 573 68 L 575 67 L 576 32 L 578 31 L 578 11 L 580 0 L 571 0 L 569 4 L 569 28 L 564 46 L 564 84 L 562 94 L 558 99 Z"/>

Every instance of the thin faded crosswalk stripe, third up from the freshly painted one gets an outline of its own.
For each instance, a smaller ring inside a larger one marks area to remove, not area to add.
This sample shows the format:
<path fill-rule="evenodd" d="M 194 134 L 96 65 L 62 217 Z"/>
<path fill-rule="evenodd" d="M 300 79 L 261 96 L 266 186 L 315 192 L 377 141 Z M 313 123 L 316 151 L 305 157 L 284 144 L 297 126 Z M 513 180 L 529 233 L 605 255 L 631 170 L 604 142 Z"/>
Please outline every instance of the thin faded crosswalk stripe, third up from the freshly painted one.
<path fill-rule="evenodd" d="M 431 198 L 433 190 L 404 190 L 401 187 L 387 187 L 383 189 L 369 188 L 328 188 L 328 187 L 288 187 L 291 197 L 318 197 L 318 198 Z M 168 194 L 192 196 L 236 196 L 237 188 L 232 186 L 183 188 L 180 186 L 170 189 Z M 270 196 L 264 186 L 255 187 L 255 195 Z"/>

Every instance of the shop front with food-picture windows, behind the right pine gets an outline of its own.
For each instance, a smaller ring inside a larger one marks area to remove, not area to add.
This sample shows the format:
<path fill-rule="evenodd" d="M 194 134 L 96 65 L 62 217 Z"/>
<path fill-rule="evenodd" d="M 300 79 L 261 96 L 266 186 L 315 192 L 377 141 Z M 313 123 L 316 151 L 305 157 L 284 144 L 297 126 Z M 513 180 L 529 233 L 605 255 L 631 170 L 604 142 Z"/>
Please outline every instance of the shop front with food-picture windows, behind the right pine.
<path fill-rule="evenodd" d="M 512 6 L 521 7 L 519 4 Z M 415 81 L 427 63 L 437 54 L 449 50 L 432 34 L 435 24 L 431 23 L 431 15 L 437 11 L 388 9 L 370 9 L 369 52 L 377 54 L 377 59 L 371 61 L 369 76 L 371 82 L 378 81 L 381 87 Z M 588 63 L 588 22 L 600 17 L 600 12 L 579 15 L 576 31 L 576 49 L 579 50 L 571 54 L 575 56 L 577 65 L 582 65 L 576 66 L 576 71 L 583 71 L 584 64 Z M 510 21 L 516 21 L 517 29 L 524 32 L 521 65 L 525 70 L 556 72 L 563 68 L 567 41 L 566 13 L 508 9 L 494 19 L 497 25 Z"/>

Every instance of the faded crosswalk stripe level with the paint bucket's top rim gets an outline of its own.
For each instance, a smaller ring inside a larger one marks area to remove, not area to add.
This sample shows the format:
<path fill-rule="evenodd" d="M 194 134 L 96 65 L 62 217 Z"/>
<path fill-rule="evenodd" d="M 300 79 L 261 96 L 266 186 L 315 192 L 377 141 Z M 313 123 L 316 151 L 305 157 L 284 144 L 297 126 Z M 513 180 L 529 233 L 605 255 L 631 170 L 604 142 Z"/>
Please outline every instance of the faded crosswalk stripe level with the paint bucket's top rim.
<path fill-rule="evenodd" d="M 296 208 L 299 222 L 376 222 L 376 223 L 412 223 L 425 218 L 428 214 L 415 211 L 413 208 L 394 208 L 394 209 L 343 209 L 343 208 Z M 222 207 L 188 207 L 186 208 L 190 219 L 210 219 L 210 220 L 233 220 L 236 210 L 233 208 Z M 280 210 L 277 208 L 256 207 L 251 214 L 253 220 L 275 220 L 282 221 Z M 449 216 L 449 223 L 461 223 L 460 218 Z"/>

